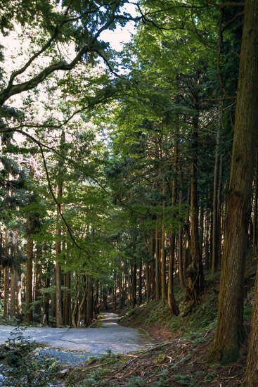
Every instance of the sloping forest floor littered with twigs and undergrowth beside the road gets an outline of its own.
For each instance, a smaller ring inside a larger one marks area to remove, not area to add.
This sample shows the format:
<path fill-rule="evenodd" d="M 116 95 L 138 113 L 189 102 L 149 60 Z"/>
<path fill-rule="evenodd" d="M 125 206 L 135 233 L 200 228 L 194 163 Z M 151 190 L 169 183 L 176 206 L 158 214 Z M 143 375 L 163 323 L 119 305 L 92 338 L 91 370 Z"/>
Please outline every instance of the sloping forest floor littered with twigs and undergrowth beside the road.
<path fill-rule="evenodd" d="M 169 315 L 167 305 L 156 301 L 123 311 L 120 324 L 143 329 L 158 341 L 156 345 L 128 355 L 110 353 L 80 367 L 68 368 L 64 386 L 240 386 L 245 374 L 256 267 L 257 257 L 249 255 L 245 274 L 246 338 L 238 362 L 228 366 L 207 362 L 217 324 L 219 272 L 214 276 L 206 273 L 205 293 L 185 317 Z M 179 304 L 184 294 L 175 286 Z"/>

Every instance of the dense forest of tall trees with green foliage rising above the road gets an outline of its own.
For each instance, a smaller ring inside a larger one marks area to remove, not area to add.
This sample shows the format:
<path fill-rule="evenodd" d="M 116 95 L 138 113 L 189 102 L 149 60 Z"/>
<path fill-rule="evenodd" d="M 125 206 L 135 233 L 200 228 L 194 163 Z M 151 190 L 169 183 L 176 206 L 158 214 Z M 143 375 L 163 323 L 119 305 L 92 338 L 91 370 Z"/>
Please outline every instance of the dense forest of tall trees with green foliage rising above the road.
<path fill-rule="evenodd" d="M 236 361 L 258 246 L 258 0 L 0 4 L 1 321 L 79 328 L 150 300 L 181 318 L 220 270 L 208 357 Z"/>

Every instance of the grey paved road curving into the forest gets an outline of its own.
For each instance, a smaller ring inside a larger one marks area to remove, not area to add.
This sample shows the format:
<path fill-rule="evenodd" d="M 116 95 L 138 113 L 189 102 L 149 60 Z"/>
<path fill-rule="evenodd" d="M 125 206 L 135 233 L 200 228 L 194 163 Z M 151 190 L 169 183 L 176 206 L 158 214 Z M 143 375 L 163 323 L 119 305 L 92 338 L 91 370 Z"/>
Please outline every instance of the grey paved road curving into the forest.
<path fill-rule="evenodd" d="M 42 343 L 63 350 L 79 350 L 91 354 L 102 354 L 108 350 L 113 353 L 128 353 L 146 348 L 153 343 L 148 336 L 137 329 L 117 324 L 118 316 L 108 313 L 101 322 L 102 328 L 69 329 L 69 328 L 35 328 L 27 327 L 24 336 L 36 343 Z M 11 338 L 13 326 L 0 326 L 0 343 Z"/>

